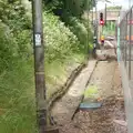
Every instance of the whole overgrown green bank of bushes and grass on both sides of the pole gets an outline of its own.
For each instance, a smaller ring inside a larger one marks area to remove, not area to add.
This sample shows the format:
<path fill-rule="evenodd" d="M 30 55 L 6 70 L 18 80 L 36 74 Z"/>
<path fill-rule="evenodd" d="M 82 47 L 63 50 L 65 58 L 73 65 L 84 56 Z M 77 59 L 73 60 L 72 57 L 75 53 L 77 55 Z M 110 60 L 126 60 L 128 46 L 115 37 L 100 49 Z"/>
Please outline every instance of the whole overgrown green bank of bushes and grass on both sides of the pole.
<path fill-rule="evenodd" d="M 83 62 L 88 35 L 83 10 L 71 7 L 69 10 L 78 14 L 63 14 L 61 19 L 49 10 L 52 3 L 43 10 L 48 99 Z M 52 7 L 60 9 L 60 4 Z M 0 0 L 0 133 L 37 133 L 31 42 L 31 18 L 25 16 L 24 7 L 17 0 L 12 4 Z"/>

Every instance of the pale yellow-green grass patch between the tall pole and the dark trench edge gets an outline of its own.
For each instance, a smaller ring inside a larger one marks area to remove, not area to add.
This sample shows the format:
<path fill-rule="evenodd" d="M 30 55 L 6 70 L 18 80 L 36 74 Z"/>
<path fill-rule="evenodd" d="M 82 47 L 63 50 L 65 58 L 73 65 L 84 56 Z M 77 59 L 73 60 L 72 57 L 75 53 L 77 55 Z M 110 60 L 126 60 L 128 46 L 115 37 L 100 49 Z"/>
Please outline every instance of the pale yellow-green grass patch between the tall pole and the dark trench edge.
<path fill-rule="evenodd" d="M 64 84 L 72 70 L 74 70 L 81 62 L 83 62 L 83 54 L 73 54 L 63 60 L 63 62 L 55 60 L 52 63 L 45 63 L 48 99 L 50 99 L 50 96 Z"/>

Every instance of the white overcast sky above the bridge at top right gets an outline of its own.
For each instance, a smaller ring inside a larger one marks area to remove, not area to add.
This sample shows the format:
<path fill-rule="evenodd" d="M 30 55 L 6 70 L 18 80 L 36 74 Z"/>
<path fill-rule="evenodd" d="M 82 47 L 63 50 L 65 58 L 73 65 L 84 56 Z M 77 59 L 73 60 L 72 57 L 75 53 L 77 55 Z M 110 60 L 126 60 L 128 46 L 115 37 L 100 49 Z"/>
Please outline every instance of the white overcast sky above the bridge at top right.
<path fill-rule="evenodd" d="M 129 8 L 129 1 L 130 0 L 111 0 L 112 3 L 106 3 L 106 6 L 122 6 L 124 9 L 127 9 Z M 132 1 L 132 4 L 133 4 L 133 0 Z M 100 9 L 104 9 L 104 6 L 105 2 L 98 2 L 98 10 Z"/>

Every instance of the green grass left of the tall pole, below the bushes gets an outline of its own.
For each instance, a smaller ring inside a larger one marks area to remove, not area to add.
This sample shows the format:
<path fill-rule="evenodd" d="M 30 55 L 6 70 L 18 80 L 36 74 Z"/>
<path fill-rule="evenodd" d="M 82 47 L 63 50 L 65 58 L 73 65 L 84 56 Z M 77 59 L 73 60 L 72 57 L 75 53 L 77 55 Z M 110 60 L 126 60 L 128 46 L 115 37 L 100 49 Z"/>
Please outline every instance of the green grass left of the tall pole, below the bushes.
<path fill-rule="evenodd" d="M 0 133 L 35 133 L 33 69 L 19 62 L 0 75 Z"/>

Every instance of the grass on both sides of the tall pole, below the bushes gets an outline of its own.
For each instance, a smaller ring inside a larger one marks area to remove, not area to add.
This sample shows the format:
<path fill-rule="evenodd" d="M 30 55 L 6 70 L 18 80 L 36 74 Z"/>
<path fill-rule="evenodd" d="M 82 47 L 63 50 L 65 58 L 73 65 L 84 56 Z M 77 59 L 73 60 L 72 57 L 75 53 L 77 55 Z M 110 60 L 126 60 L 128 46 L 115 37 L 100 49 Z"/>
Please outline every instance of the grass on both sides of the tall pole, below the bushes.
<path fill-rule="evenodd" d="M 82 54 L 73 54 L 62 63 L 57 60 L 47 64 L 48 99 L 69 76 L 68 63 L 78 65 L 82 61 Z M 32 61 L 19 61 L 13 70 L 0 74 L 0 133 L 38 133 L 33 74 Z"/>

